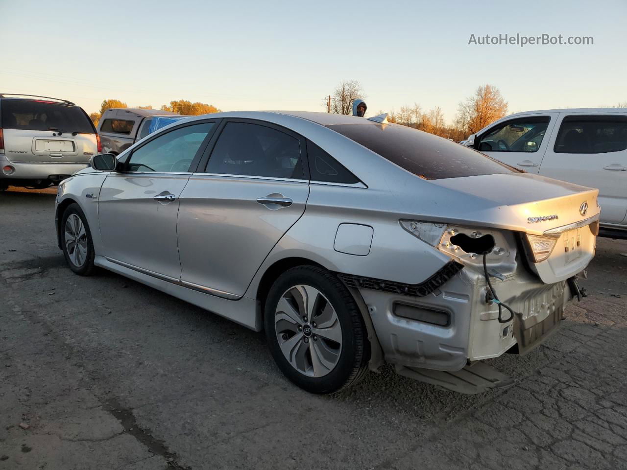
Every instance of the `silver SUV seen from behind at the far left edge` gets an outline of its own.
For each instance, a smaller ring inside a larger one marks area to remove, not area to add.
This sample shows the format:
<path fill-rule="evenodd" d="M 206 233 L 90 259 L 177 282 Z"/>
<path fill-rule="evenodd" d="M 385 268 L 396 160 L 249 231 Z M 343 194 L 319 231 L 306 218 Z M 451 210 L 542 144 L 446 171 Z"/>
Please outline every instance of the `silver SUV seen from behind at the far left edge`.
<path fill-rule="evenodd" d="M 0 189 L 58 184 L 101 151 L 83 108 L 56 98 L 0 93 Z"/>

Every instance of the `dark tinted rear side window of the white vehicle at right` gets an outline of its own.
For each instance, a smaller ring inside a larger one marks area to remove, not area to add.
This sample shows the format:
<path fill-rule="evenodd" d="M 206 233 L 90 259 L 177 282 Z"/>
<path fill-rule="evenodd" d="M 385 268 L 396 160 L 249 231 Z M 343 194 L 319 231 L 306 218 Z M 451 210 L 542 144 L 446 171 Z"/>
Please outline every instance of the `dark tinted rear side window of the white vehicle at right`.
<path fill-rule="evenodd" d="M 604 154 L 627 149 L 626 116 L 567 116 L 557 133 L 557 154 Z"/>

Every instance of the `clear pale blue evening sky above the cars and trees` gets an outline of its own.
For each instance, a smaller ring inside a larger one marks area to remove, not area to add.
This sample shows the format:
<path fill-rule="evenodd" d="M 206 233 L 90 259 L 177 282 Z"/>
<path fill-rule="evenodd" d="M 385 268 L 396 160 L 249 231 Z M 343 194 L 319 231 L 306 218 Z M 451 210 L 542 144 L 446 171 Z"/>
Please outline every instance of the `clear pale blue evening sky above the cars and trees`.
<path fill-rule="evenodd" d="M 358 80 L 368 115 L 418 103 L 447 122 L 479 85 L 509 112 L 627 102 L 626 0 L 0 0 L 0 93 L 161 107 L 325 111 Z M 520 34 L 591 45 L 481 45 Z"/>

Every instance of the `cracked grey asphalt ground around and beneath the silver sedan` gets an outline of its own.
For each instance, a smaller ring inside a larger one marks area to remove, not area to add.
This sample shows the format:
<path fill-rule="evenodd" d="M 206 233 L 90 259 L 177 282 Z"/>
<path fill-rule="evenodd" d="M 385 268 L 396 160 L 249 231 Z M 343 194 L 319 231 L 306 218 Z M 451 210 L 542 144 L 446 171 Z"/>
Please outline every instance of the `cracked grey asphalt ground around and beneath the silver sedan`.
<path fill-rule="evenodd" d="M 559 333 L 492 360 L 513 387 L 459 395 L 385 368 L 320 397 L 261 334 L 71 273 L 54 192 L 0 192 L 0 470 L 627 469 L 627 241 L 598 239 Z"/>

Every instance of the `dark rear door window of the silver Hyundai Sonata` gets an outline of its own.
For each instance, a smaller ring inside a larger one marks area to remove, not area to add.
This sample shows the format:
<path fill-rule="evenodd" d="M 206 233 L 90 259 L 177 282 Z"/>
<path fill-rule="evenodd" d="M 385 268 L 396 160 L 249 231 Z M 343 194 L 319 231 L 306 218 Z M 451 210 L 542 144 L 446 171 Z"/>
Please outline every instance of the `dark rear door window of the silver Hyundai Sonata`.
<path fill-rule="evenodd" d="M 229 122 L 211 152 L 207 172 L 303 179 L 300 142 L 270 127 Z"/>

